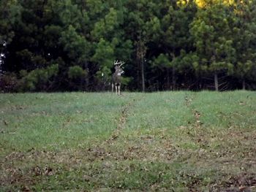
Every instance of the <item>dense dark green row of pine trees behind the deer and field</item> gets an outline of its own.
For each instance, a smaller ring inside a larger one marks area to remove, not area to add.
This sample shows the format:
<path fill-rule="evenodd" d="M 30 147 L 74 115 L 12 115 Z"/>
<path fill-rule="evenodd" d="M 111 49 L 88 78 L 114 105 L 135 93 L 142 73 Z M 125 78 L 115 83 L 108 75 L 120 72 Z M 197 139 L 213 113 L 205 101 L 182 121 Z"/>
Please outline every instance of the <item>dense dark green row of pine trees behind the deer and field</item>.
<path fill-rule="evenodd" d="M 255 0 L 1 0 L 0 90 L 256 89 Z"/>

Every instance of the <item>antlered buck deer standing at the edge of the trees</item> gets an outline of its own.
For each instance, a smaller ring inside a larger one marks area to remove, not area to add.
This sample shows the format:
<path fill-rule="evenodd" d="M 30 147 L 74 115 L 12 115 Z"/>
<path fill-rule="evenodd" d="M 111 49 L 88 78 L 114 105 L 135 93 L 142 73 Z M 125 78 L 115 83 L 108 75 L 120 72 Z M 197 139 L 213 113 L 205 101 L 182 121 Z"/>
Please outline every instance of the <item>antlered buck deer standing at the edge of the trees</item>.
<path fill-rule="evenodd" d="M 120 96 L 120 87 L 121 87 L 121 74 L 124 73 L 124 70 L 121 68 L 122 65 L 125 63 L 123 61 L 114 61 L 114 66 L 115 66 L 115 72 L 112 75 L 112 93 L 114 90 L 114 87 L 116 88 L 116 95 Z"/>

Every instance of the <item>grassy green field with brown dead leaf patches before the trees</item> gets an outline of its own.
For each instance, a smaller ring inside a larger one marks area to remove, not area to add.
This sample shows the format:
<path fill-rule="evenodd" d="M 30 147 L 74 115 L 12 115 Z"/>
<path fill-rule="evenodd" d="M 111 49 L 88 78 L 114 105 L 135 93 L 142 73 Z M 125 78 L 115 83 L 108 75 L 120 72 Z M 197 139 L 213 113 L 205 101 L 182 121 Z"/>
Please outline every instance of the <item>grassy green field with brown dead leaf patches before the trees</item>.
<path fill-rule="evenodd" d="M 256 93 L 0 94 L 0 191 L 256 191 Z"/>

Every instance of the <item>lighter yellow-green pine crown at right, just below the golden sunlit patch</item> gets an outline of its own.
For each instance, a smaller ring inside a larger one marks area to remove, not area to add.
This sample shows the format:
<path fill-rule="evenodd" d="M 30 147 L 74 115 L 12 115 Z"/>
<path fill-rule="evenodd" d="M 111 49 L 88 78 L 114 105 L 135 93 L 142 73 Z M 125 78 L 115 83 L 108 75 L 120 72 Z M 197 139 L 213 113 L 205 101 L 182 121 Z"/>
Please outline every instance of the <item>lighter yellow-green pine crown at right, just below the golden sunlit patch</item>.
<path fill-rule="evenodd" d="M 219 72 L 223 69 L 232 71 L 235 48 L 230 39 L 231 29 L 227 23 L 227 9 L 222 4 L 212 4 L 207 9 L 197 12 L 191 24 L 191 34 L 195 39 L 196 53 L 200 56 L 195 70 Z M 200 67 L 199 67 L 200 66 Z"/>

